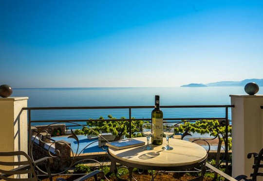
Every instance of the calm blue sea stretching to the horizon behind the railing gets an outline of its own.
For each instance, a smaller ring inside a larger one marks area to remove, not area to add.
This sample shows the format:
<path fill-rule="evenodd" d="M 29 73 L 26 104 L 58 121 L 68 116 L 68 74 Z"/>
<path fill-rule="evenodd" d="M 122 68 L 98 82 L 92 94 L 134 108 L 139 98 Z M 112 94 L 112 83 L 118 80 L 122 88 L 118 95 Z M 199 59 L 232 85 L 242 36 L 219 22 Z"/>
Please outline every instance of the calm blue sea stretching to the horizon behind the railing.
<path fill-rule="evenodd" d="M 245 94 L 244 87 L 165 87 L 165 88 L 23 88 L 15 97 L 29 97 L 28 107 L 49 106 L 148 106 L 154 95 L 161 105 L 224 105 L 230 94 Z M 263 94 L 260 87 L 258 94 Z M 132 109 L 135 118 L 150 118 L 152 109 Z M 224 108 L 162 109 L 164 117 L 225 117 Z M 89 119 L 113 115 L 129 117 L 128 109 L 32 111 L 32 120 Z M 231 118 L 231 110 L 229 109 Z"/>

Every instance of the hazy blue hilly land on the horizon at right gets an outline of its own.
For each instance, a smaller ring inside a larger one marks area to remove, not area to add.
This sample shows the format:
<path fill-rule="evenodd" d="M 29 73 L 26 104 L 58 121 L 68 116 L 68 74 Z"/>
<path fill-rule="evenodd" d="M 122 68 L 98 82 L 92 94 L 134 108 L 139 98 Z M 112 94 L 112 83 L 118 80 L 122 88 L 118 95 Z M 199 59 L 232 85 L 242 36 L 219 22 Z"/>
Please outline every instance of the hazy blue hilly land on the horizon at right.
<path fill-rule="evenodd" d="M 255 82 L 259 86 L 263 86 L 263 79 L 245 79 L 243 81 L 222 81 L 222 82 L 211 82 L 207 84 L 202 84 L 202 83 L 190 83 L 187 85 L 182 85 L 181 87 L 215 87 L 215 86 L 245 86 L 245 84 L 249 82 Z"/>

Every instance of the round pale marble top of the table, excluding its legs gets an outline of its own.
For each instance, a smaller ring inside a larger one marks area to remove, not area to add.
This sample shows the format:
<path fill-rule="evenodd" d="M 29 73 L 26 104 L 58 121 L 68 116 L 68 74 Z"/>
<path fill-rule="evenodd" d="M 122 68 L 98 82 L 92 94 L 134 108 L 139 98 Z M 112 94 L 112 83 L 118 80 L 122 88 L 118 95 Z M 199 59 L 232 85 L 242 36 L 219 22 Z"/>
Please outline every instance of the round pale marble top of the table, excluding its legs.
<path fill-rule="evenodd" d="M 143 140 L 147 143 L 146 137 L 134 139 Z M 166 138 L 164 138 L 163 145 L 153 145 L 153 150 L 145 150 L 146 145 L 120 150 L 109 148 L 109 154 L 127 163 L 164 167 L 196 164 L 207 157 L 206 149 L 195 143 L 170 138 L 169 145 L 173 147 L 173 149 L 163 150 L 162 147 L 165 146 L 166 143 Z"/>

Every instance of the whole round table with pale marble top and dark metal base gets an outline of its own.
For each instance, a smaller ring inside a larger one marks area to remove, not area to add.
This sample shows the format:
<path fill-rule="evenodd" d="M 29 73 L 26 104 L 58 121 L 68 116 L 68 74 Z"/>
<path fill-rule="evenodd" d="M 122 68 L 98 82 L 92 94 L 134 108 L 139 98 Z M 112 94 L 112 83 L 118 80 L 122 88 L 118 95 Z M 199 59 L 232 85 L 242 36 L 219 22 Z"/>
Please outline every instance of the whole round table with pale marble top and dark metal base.
<path fill-rule="evenodd" d="M 145 141 L 146 137 L 133 138 Z M 126 149 L 108 149 L 109 157 L 112 161 L 111 171 L 116 173 L 116 163 L 125 165 L 130 170 L 130 180 L 132 168 L 144 170 L 163 170 L 179 171 L 191 169 L 202 165 L 205 167 L 207 161 L 207 151 L 205 148 L 185 140 L 169 139 L 169 145 L 172 150 L 164 150 L 166 138 L 163 145 L 152 145 L 153 150 L 145 150 L 144 146 L 126 148 Z M 204 168 L 205 169 L 205 168 Z"/>

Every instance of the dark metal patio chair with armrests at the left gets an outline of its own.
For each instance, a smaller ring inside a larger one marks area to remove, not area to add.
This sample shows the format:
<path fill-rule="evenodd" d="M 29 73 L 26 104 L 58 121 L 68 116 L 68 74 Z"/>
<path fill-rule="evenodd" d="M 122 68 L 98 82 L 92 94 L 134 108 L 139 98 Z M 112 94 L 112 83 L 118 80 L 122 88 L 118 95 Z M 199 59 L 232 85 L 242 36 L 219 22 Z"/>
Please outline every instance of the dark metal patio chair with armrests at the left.
<path fill-rule="evenodd" d="M 2 157 L 7 156 L 24 156 L 26 158 L 26 161 L 19 161 L 19 162 L 2 162 Z M 49 164 L 52 163 L 51 157 L 44 157 L 39 160 L 36 160 L 35 162 L 32 162 L 30 157 L 23 151 L 12 151 L 12 152 L 0 152 L 0 165 L 4 166 L 19 166 L 12 170 L 2 170 L 0 169 L 0 179 L 3 179 L 5 181 L 38 181 L 38 177 L 36 174 L 35 166 L 40 163 L 45 163 L 50 181 L 52 181 L 52 174 L 50 173 Z M 94 177 L 95 181 L 97 181 L 97 174 L 101 173 L 100 170 L 94 170 L 93 172 L 84 175 L 75 181 L 84 181 L 88 178 Z M 20 176 L 22 174 L 28 174 L 28 178 L 21 178 Z M 14 178 L 9 178 L 10 176 L 15 175 Z M 64 179 L 61 179 L 64 180 Z"/>

